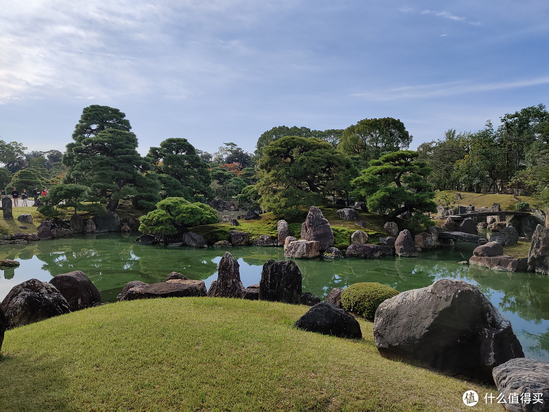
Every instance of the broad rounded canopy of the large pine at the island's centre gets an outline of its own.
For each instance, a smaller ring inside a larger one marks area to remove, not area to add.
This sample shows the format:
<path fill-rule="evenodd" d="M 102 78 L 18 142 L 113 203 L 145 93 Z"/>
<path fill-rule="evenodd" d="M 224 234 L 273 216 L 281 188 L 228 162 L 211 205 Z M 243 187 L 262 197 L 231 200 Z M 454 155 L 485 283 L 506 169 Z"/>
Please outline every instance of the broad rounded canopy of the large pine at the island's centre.
<path fill-rule="evenodd" d="M 285 136 L 263 149 L 257 192 L 264 210 L 289 217 L 320 204 L 327 195 L 344 197 L 357 170 L 343 153 L 315 137 Z"/>

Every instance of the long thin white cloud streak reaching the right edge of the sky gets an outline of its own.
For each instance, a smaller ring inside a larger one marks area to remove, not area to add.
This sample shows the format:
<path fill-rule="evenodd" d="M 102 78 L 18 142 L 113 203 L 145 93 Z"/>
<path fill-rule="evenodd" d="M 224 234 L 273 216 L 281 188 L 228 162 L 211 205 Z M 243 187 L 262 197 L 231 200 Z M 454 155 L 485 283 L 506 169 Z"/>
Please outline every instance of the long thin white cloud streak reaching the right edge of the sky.
<path fill-rule="evenodd" d="M 454 94 L 490 92 L 547 84 L 549 84 L 549 76 L 497 83 L 478 83 L 470 80 L 463 80 L 433 83 L 430 85 L 396 87 L 385 91 L 355 93 L 352 94 L 352 96 L 361 97 L 368 101 L 391 101 L 396 99 L 445 97 Z"/>

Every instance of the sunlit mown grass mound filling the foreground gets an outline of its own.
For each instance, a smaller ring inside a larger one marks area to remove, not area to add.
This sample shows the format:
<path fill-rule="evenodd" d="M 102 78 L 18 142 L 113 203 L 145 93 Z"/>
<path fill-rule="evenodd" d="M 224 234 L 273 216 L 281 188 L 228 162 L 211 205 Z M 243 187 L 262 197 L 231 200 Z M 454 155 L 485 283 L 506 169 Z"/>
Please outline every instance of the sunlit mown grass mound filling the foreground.
<path fill-rule="evenodd" d="M 119 302 L 6 332 L 0 410 L 463 410 L 495 387 L 293 329 L 307 307 L 221 298 Z M 484 405 L 475 410 L 501 410 Z"/>

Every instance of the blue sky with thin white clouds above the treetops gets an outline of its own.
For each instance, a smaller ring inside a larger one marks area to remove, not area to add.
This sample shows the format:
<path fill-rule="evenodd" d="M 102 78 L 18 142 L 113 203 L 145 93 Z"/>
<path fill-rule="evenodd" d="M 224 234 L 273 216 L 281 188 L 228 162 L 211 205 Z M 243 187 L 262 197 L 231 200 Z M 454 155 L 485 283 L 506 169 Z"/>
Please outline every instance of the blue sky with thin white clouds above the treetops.
<path fill-rule="evenodd" d="M 91 104 L 124 112 L 146 154 L 384 117 L 415 149 L 549 103 L 547 0 L 4 3 L 0 139 L 29 151 L 64 151 Z"/>

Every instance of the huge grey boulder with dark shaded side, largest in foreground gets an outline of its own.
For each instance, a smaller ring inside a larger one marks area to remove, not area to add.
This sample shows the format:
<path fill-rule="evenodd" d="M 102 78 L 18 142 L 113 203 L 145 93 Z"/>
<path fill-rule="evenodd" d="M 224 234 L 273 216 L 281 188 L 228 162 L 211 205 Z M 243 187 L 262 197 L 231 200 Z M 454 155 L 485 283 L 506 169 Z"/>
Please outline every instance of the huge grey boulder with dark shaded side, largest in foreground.
<path fill-rule="evenodd" d="M 524 357 L 511 322 L 461 280 L 442 279 L 385 300 L 373 333 L 384 358 L 487 382 L 495 366 Z"/>

